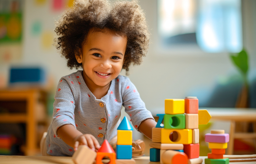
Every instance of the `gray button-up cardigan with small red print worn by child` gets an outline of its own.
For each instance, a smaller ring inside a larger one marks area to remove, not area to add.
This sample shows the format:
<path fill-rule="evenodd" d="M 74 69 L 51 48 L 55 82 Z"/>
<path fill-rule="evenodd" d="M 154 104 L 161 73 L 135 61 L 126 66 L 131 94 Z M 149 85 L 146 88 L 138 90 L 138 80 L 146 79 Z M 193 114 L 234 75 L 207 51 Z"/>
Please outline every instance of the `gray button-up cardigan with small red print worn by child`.
<path fill-rule="evenodd" d="M 56 89 L 53 120 L 46 136 L 47 153 L 72 156 L 73 147 L 57 134 L 57 129 L 66 124 L 74 125 L 83 134 L 92 134 L 100 144 L 105 139 L 110 141 L 117 135 L 122 105 L 136 130 L 143 120 L 154 119 L 128 77 L 118 76 L 112 80 L 108 94 L 101 99 L 96 99 L 86 86 L 82 71 L 62 77 Z"/>

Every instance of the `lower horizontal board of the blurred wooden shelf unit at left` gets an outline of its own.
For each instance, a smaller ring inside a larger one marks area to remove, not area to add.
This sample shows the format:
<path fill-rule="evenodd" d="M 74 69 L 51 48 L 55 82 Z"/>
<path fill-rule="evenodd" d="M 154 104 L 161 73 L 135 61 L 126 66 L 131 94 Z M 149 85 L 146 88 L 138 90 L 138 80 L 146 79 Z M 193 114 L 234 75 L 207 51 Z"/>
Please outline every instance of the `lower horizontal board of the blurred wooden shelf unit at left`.
<path fill-rule="evenodd" d="M 24 113 L 0 114 L 0 122 L 6 123 L 26 123 L 27 116 Z"/>

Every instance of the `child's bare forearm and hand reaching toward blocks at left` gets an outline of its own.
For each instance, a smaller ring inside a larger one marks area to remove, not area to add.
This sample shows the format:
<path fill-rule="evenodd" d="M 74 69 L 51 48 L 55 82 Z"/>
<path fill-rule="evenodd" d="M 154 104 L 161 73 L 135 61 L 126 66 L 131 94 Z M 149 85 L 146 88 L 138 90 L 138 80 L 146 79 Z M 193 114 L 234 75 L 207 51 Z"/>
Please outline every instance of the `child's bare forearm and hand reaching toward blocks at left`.
<path fill-rule="evenodd" d="M 57 133 L 59 137 L 69 146 L 77 150 L 77 147 L 81 144 L 87 145 L 92 150 L 95 148 L 98 150 L 100 144 L 98 140 L 91 134 L 84 134 L 78 131 L 73 125 L 67 124 L 58 128 Z"/>

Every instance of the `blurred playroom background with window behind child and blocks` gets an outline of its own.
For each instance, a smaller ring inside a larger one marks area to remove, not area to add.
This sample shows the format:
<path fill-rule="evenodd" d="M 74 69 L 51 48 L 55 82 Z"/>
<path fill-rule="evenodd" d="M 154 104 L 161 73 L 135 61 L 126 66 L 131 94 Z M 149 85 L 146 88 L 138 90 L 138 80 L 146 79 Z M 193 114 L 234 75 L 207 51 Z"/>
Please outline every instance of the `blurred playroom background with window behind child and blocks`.
<path fill-rule="evenodd" d="M 54 22 L 72 3 L 0 0 L 0 155 L 40 155 L 58 81 L 76 72 L 52 45 Z M 256 116 L 247 115 L 256 112 L 256 1 L 140 0 L 139 5 L 151 40 L 144 61 L 131 66 L 128 77 L 147 109 L 156 116 L 164 113 L 164 99 L 196 96 L 212 115 L 199 127 L 200 156 L 210 152 L 204 134 L 216 128 L 233 134 L 229 154 L 255 154 Z M 221 112 L 225 119 L 215 117 Z M 244 116 L 236 121 L 228 117 L 232 113 Z M 133 138 L 148 145 L 139 132 Z"/>

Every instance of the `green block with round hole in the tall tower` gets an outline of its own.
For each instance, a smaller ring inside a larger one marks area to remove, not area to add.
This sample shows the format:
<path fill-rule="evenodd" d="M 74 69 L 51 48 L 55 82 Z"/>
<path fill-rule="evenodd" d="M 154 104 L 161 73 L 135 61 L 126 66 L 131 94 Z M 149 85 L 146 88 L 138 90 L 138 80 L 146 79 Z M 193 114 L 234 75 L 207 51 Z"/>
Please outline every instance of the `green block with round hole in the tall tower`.
<path fill-rule="evenodd" d="M 185 114 L 165 114 L 164 128 L 166 129 L 185 129 Z"/>

